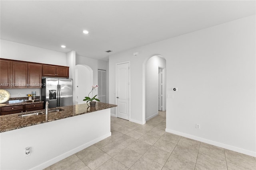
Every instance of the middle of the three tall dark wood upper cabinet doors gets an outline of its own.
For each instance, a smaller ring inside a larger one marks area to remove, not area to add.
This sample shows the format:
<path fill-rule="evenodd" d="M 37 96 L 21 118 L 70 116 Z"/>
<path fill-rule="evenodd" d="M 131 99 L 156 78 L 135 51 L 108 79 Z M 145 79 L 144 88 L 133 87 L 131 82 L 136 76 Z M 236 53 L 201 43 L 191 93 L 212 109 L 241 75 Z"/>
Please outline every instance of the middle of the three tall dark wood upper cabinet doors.
<path fill-rule="evenodd" d="M 12 62 L 12 88 L 25 88 L 28 84 L 28 63 Z"/>

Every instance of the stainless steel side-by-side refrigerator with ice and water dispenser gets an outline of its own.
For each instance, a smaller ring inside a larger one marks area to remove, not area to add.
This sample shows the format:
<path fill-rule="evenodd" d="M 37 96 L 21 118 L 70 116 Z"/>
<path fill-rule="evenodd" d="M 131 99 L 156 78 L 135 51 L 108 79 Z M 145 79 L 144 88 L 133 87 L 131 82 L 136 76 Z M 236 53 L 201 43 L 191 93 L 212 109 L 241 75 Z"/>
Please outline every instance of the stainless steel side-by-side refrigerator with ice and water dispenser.
<path fill-rule="evenodd" d="M 64 78 L 44 78 L 41 89 L 44 104 L 49 108 L 73 105 L 73 80 Z"/>

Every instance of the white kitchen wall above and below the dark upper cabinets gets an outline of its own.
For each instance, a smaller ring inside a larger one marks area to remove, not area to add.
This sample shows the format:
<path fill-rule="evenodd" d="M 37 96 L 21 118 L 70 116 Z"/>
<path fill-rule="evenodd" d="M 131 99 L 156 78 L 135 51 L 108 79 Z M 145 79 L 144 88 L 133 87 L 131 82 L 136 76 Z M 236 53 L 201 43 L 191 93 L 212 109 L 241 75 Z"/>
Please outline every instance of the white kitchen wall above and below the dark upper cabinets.
<path fill-rule="evenodd" d="M 66 53 L 60 53 L 3 39 L 0 39 L 0 47 L 0 57 L 3 59 L 67 66 Z M 36 96 L 40 96 L 39 88 L 7 89 L 7 91 L 10 93 L 11 98 L 27 97 L 26 95 L 30 94 L 32 91 L 36 91 Z M 18 96 L 18 93 L 21 93 L 21 96 Z"/>

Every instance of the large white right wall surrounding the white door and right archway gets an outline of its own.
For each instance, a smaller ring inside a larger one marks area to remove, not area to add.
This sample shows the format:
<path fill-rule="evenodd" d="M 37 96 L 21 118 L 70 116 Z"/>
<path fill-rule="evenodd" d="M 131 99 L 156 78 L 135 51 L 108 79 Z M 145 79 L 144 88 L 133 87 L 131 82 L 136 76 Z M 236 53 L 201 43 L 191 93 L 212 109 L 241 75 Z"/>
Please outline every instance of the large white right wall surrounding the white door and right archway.
<path fill-rule="evenodd" d="M 174 95 L 166 100 L 166 131 L 256 156 L 255 30 L 254 15 L 110 55 L 110 103 L 115 64 L 130 61 L 131 118 L 143 123 L 145 63 L 162 55 L 166 93 Z"/>

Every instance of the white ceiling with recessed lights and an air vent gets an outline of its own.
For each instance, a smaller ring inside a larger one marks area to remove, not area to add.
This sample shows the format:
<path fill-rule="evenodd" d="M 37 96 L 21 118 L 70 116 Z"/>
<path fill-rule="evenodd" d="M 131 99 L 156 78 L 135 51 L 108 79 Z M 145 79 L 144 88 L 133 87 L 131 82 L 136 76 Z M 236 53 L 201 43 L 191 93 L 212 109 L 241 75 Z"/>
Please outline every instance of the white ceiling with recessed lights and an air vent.
<path fill-rule="evenodd" d="M 255 0 L 1 0 L 0 10 L 1 39 L 106 60 L 126 49 L 254 15 Z"/>

